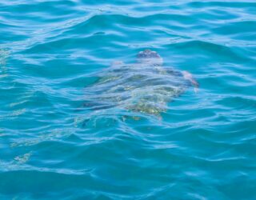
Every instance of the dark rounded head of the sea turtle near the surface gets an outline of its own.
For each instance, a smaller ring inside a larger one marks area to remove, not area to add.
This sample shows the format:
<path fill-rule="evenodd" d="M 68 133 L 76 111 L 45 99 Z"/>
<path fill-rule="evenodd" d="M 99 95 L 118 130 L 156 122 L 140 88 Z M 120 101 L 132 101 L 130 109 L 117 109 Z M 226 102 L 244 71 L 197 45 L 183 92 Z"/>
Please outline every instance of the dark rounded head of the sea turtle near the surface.
<path fill-rule="evenodd" d="M 162 66 L 161 56 L 153 50 L 143 50 L 137 54 L 138 63 Z"/>

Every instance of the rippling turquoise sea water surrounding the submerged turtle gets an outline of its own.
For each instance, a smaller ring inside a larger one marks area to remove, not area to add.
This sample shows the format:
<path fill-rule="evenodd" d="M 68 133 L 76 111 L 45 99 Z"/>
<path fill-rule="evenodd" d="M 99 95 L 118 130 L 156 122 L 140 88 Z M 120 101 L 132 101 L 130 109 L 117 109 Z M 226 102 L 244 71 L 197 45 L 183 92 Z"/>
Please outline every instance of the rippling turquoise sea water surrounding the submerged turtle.
<path fill-rule="evenodd" d="M 0 35 L 0 199 L 255 199 L 256 2 L 2 0 Z M 145 49 L 198 93 L 161 118 L 84 106 Z"/>

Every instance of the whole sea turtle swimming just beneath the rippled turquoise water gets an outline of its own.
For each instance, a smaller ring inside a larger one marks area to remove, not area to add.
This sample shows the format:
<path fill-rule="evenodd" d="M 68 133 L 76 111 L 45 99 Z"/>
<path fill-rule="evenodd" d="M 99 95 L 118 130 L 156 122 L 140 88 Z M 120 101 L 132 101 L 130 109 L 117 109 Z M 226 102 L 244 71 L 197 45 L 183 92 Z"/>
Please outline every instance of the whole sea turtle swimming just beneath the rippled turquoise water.
<path fill-rule="evenodd" d="M 160 116 L 167 103 L 186 88 L 198 88 L 189 72 L 165 68 L 162 63 L 160 55 L 152 50 L 139 52 L 133 64 L 114 62 L 96 75 L 94 84 L 86 87 L 84 106 L 92 110 L 117 107 Z"/>

